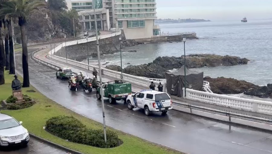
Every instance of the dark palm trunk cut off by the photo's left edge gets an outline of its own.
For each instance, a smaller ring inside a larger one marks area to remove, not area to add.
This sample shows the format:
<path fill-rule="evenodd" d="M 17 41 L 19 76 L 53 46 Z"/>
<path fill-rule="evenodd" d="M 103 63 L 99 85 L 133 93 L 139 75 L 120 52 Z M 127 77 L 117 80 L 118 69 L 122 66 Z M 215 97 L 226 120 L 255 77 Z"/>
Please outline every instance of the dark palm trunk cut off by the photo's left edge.
<path fill-rule="evenodd" d="M 0 19 L 0 85 L 5 84 L 4 66 L 5 66 L 5 50 L 3 39 L 1 36 L 2 20 Z"/>

